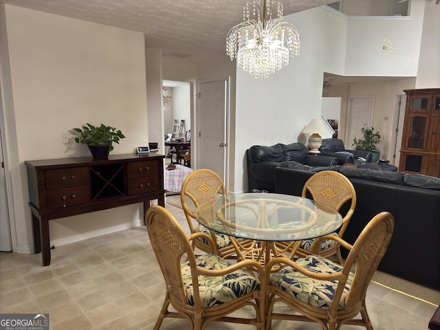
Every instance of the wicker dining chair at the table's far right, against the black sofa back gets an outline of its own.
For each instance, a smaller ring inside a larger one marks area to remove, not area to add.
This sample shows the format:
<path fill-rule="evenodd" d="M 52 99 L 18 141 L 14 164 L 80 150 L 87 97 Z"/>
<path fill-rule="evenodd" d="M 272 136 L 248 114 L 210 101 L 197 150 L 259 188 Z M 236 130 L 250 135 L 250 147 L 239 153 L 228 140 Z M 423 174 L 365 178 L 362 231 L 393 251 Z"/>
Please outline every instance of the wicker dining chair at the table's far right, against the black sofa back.
<path fill-rule="evenodd" d="M 347 229 L 347 225 L 356 206 L 356 191 L 351 184 L 351 181 L 347 179 L 346 176 L 341 173 L 335 172 L 334 170 L 322 170 L 314 175 L 312 175 L 303 187 L 303 192 L 301 197 L 311 197 L 314 201 L 323 203 L 331 208 L 337 210 L 338 212 L 347 202 L 349 202 L 349 210 L 346 214 L 342 215 L 342 226 L 339 228 L 336 234 L 340 237 L 344 234 Z M 302 257 L 311 254 L 311 246 L 314 244 L 316 239 L 306 239 L 300 242 L 299 248 L 297 248 L 295 255 Z M 277 243 L 278 246 L 284 247 L 285 250 L 290 243 L 290 247 L 295 246 L 291 242 Z M 289 247 L 289 248 L 290 248 Z M 342 256 L 340 252 L 340 245 L 333 240 L 322 241 L 320 256 L 336 255 L 338 262 L 342 265 Z"/>

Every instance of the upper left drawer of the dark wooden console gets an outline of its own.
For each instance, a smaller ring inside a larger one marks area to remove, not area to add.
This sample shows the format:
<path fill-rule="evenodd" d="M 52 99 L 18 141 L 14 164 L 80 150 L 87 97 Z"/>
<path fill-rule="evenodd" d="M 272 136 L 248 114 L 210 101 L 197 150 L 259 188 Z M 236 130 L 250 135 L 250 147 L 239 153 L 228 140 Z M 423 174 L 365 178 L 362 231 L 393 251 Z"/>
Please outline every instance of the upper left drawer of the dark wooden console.
<path fill-rule="evenodd" d="M 89 184 L 89 168 L 72 167 L 46 170 L 46 189 L 67 188 Z"/>

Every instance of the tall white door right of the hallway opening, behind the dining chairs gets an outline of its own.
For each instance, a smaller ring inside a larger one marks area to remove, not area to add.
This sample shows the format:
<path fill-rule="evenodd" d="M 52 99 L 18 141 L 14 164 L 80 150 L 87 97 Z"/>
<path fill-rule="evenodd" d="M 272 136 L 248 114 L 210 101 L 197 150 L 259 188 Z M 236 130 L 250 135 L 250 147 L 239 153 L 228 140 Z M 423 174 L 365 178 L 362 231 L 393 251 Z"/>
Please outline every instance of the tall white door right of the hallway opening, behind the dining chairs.
<path fill-rule="evenodd" d="M 227 80 L 198 83 L 197 168 L 209 168 L 226 177 Z"/>

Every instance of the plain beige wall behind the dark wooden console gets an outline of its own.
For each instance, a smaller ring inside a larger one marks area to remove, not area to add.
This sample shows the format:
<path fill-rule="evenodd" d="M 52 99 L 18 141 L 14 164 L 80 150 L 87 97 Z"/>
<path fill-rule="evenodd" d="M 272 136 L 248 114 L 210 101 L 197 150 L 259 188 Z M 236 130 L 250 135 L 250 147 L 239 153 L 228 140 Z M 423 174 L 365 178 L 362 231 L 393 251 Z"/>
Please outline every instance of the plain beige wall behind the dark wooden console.
<path fill-rule="evenodd" d="M 112 153 L 133 153 L 148 141 L 144 36 L 12 5 L 5 5 L 5 23 L 12 92 L 5 93 L 3 111 L 14 124 L 5 142 L 8 153 L 17 151 L 18 157 L 9 154 L 8 168 L 17 250 L 27 252 L 32 226 L 25 160 L 89 155 L 73 138 L 61 143 L 61 133 L 85 122 L 115 126 L 126 135 Z M 1 74 L 7 80 L 7 70 Z M 135 204 L 53 220 L 51 244 L 126 228 L 141 218 L 141 204 Z"/>

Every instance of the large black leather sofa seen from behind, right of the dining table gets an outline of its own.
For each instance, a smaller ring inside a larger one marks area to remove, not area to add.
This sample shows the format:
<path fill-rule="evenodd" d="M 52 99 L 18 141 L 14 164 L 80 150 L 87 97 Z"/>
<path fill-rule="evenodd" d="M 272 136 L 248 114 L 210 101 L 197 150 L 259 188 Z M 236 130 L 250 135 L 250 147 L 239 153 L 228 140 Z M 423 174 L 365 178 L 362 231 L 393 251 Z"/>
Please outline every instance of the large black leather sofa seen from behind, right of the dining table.
<path fill-rule="evenodd" d="M 311 168 L 289 162 L 276 168 L 276 192 L 301 195 L 307 179 L 326 169 L 347 176 L 356 190 L 358 202 L 344 239 L 354 243 L 375 214 L 391 212 L 395 230 L 379 269 L 440 289 L 440 179 L 369 168 Z"/>

